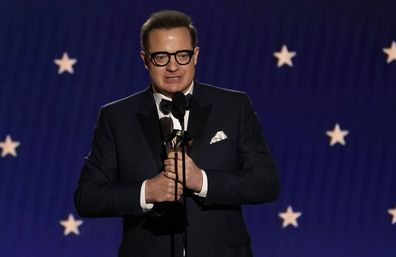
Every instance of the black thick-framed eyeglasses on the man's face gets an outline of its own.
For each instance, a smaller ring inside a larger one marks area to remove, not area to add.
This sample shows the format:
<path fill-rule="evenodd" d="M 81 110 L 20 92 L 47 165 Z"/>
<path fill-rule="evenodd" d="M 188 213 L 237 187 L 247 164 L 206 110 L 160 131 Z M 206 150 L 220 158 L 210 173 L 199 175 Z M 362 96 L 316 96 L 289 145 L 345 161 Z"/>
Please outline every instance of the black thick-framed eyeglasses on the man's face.
<path fill-rule="evenodd" d="M 178 64 L 187 65 L 191 62 L 191 58 L 194 55 L 193 50 L 179 50 L 174 53 L 169 53 L 169 52 L 165 52 L 165 51 L 150 53 L 150 52 L 146 51 L 146 53 L 150 57 L 151 62 L 155 66 L 159 66 L 159 67 L 168 65 L 168 63 L 170 62 L 170 57 L 172 55 L 175 56 L 176 62 Z"/>

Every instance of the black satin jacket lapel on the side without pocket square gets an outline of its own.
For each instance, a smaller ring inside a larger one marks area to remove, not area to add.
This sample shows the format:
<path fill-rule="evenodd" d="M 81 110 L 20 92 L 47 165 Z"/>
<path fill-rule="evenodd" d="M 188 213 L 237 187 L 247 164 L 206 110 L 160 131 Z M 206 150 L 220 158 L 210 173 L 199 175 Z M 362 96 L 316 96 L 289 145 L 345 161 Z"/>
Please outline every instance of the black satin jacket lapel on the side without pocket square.
<path fill-rule="evenodd" d="M 161 154 L 163 151 L 161 130 L 158 118 L 157 108 L 155 106 L 153 94 L 150 89 L 147 89 L 143 95 L 141 104 L 141 112 L 136 114 L 139 120 L 142 131 L 145 135 L 147 144 L 150 147 L 151 153 L 158 170 L 162 169 Z"/>

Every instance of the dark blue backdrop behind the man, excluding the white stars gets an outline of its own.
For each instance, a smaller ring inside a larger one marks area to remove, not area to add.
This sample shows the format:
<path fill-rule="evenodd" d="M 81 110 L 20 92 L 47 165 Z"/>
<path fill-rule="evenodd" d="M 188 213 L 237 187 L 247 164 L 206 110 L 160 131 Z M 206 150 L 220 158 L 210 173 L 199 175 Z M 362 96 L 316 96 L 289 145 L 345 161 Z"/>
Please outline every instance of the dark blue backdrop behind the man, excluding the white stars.
<path fill-rule="evenodd" d="M 98 108 L 149 83 L 139 29 L 160 9 L 192 16 L 197 79 L 248 92 L 278 163 L 279 200 L 244 208 L 255 256 L 396 256 L 396 60 L 383 51 L 396 41 L 396 3 L 386 0 L 1 0 L 0 256 L 115 256 L 120 220 L 82 220 L 72 194 Z M 293 66 L 277 66 L 282 45 Z M 74 73 L 58 74 L 64 52 Z M 336 123 L 345 145 L 330 145 Z M 297 227 L 282 226 L 288 206 Z M 79 235 L 64 235 L 69 214 Z"/>

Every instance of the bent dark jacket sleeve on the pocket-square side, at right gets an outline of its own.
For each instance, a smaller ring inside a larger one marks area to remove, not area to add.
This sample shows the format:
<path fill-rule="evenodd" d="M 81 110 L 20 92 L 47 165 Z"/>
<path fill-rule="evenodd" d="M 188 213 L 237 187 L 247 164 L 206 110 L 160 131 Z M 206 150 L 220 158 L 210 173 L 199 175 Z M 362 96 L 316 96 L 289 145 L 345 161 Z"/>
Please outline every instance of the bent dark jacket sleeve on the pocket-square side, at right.
<path fill-rule="evenodd" d="M 208 194 L 204 205 L 241 205 L 274 201 L 279 195 L 277 168 L 246 94 L 240 97 L 237 155 L 240 169 L 205 170 Z"/>

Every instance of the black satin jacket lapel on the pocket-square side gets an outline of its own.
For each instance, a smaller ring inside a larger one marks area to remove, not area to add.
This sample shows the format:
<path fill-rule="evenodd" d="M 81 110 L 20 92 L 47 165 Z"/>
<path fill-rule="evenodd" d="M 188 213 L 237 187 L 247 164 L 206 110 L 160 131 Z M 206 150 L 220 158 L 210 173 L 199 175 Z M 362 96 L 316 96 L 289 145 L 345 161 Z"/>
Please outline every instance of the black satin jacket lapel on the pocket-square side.
<path fill-rule="evenodd" d="M 202 86 L 195 81 L 193 97 L 190 105 L 190 116 L 188 120 L 188 130 L 191 132 L 193 137 L 190 153 L 193 159 L 197 158 L 201 149 L 210 109 L 211 105 L 207 103 Z"/>

